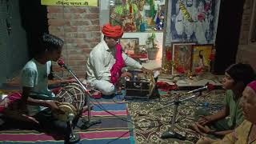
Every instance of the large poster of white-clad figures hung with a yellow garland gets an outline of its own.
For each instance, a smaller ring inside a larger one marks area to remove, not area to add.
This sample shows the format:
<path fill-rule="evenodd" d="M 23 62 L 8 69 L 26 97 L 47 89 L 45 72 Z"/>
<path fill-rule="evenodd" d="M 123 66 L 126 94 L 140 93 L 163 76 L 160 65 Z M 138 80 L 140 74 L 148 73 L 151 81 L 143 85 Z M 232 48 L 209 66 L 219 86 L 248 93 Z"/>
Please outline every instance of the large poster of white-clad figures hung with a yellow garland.
<path fill-rule="evenodd" d="M 221 0 L 171 0 L 171 42 L 214 44 Z"/>

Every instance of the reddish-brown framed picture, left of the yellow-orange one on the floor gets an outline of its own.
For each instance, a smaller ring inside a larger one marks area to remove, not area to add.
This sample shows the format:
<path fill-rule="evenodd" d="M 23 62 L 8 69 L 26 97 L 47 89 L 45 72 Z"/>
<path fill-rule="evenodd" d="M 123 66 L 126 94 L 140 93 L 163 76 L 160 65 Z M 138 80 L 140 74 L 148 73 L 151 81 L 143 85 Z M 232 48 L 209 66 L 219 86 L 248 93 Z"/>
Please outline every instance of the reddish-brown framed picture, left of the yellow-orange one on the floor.
<path fill-rule="evenodd" d="M 190 72 L 192 63 L 192 52 L 195 43 L 173 43 L 173 66 L 172 74 L 183 74 Z"/>

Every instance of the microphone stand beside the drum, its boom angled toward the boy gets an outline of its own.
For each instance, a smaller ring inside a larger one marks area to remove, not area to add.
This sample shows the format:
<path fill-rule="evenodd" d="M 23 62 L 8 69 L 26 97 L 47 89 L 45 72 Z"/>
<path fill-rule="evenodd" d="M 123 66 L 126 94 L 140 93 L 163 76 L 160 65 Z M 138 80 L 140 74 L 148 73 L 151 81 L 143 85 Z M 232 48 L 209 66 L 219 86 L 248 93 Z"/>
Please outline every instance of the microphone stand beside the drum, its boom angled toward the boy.
<path fill-rule="evenodd" d="M 82 82 L 81 82 L 81 81 L 78 79 L 78 77 L 73 73 L 73 71 L 70 70 L 69 67 L 67 67 L 66 65 L 63 65 L 63 67 L 64 67 L 68 72 L 70 72 L 70 74 L 74 77 L 74 79 L 78 82 L 78 84 L 79 84 L 80 86 L 82 86 L 82 89 L 88 94 L 88 96 L 86 97 L 87 107 L 88 107 L 88 121 L 83 121 L 84 124 L 83 124 L 82 128 L 83 128 L 83 129 L 87 129 L 87 128 L 89 128 L 90 126 L 93 126 L 93 125 L 95 125 L 95 124 L 101 123 L 101 120 L 99 120 L 99 119 L 98 119 L 98 120 L 95 120 L 95 121 L 90 121 L 90 97 L 91 97 L 91 95 L 90 95 L 90 92 L 86 89 L 86 86 L 84 86 L 84 85 L 82 84 Z"/>

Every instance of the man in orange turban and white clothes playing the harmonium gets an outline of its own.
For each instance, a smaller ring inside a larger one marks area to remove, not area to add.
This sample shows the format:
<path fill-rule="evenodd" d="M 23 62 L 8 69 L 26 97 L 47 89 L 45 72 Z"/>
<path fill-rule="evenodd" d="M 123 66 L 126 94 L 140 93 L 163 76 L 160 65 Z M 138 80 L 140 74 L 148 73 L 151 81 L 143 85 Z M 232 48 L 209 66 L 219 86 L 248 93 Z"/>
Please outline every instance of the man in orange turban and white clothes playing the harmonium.
<path fill-rule="evenodd" d="M 122 52 L 118 39 L 122 38 L 123 30 L 121 26 L 103 26 L 102 33 L 104 39 L 90 52 L 86 63 L 86 82 L 94 86 L 104 95 L 115 93 L 119 78 L 129 76 L 128 73 L 121 73 L 124 66 L 134 67 L 146 73 L 152 73 L 144 68 L 139 62 L 128 57 Z"/>

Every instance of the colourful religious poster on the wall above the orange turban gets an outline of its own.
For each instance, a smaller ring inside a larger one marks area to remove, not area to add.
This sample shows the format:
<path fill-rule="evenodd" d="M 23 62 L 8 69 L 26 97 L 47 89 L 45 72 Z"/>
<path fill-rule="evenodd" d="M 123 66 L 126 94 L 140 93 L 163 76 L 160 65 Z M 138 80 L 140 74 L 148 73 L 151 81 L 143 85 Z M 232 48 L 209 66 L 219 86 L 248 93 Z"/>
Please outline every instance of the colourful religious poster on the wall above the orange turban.
<path fill-rule="evenodd" d="M 110 23 L 125 32 L 163 30 L 165 0 L 110 0 Z"/>

